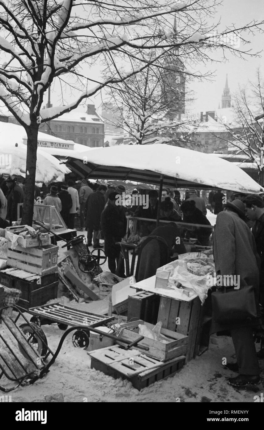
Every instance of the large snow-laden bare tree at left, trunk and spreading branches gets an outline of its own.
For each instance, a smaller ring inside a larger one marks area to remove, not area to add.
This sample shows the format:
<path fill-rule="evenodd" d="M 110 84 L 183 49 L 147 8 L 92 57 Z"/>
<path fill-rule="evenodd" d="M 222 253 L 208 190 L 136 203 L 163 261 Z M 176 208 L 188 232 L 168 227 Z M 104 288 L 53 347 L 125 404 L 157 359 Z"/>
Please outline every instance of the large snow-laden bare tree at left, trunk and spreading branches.
<path fill-rule="evenodd" d="M 71 111 L 105 86 L 123 82 L 155 64 L 175 46 L 184 47 L 189 61 L 209 58 L 209 52 L 221 46 L 209 43 L 212 35 L 208 35 L 214 26 L 207 19 L 217 5 L 217 0 L 164 0 L 162 4 L 157 0 L 0 0 L 0 100 L 28 137 L 22 223 L 32 224 L 40 124 Z M 183 29 L 177 41 L 168 31 L 175 12 Z M 260 25 L 252 22 L 243 29 L 252 31 Z M 243 55 L 238 48 L 230 49 Z M 151 61 L 144 59 L 144 52 L 153 52 Z M 101 81 L 83 71 L 99 62 L 105 71 Z M 121 64 L 125 67 L 120 76 Z M 62 92 L 63 86 L 70 86 L 75 99 L 67 103 L 62 94 L 62 106 L 41 109 L 52 82 L 61 85 Z"/>

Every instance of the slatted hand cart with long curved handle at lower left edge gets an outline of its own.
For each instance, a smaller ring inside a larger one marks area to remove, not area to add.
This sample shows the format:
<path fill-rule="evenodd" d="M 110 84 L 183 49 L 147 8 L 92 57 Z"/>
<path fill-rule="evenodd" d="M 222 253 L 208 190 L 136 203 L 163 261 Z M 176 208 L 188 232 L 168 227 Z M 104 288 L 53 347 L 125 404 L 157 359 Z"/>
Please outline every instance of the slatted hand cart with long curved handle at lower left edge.
<path fill-rule="evenodd" d="M 144 339 L 144 336 L 139 336 L 136 341 L 131 343 L 126 339 L 120 337 L 117 338 L 114 335 L 105 332 L 102 333 L 100 330 L 95 329 L 94 325 L 96 326 L 96 324 L 101 324 L 101 321 L 97 320 L 97 322 L 92 322 L 90 325 L 88 320 L 83 320 L 82 324 L 75 325 L 73 320 L 70 320 L 70 318 L 68 321 L 68 319 L 59 317 L 60 320 L 64 322 L 67 321 L 69 325 L 72 325 L 72 327 L 63 333 L 57 350 L 55 353 L 52 353 L 52 350 L 48 347 L 46 336 L 41 327 L 33 322 L 29 322 L 22 313 L 26 311 L 25 309 L 13 306 L 13 310 L 17 312 L 17 316 L 14 318 L 2 314 L 3 309 L 6 309 L 6 307 L 0 309 L 0 380 L 3 377 L 6 377 L 15 383 L 15 386 L 13 387 L 7 387 L 6 384 L 5 386 L 0 385 L 0 390 L 6 393 L 15 390 L 15 388 L 20 385 L 33 384 L 37 379 L 43 378 L 43 376 L 49 372 L 50 366 L 55 362 L 65 338 L 74 330 L 77 332 L 81 330 L 87 332 L 92 329 L 93 332 L 103 334 L 104 336 L 116 341 L 121 340 L 126 344 L 125 349 L 130 349 Z M 31 311 L 31 313 L 35 312 L 36 314 L 37 308 L 34 309 L 35 310 Z M 23 324 L 20 324 L 20 326 L 18 326 L 19 318 L 23 319 Z M 49 318 L 52 318 L 54 321 L 56 317 L 49 316 Z M 106 319 L 109 320 L 112 319 L 112 317 Z M 148 347 L 140 345 L 138 345 L 138 348 L 149 350 Z M 52 356 L 51 360 L 45 364 L 50 355 Z"/>

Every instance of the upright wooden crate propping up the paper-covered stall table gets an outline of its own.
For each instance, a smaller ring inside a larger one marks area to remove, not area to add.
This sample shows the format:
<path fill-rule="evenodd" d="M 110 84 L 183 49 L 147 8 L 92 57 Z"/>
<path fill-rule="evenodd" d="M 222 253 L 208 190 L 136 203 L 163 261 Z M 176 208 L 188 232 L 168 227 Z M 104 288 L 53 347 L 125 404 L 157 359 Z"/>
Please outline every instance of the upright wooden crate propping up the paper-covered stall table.
<path fill-rule="evenodd" d="M 181 301 L 162 296 L 158 321 L 166 329 L 188 336 L 187 361 L 195 358 L 199 347 L 199 335 L 201 332 L 201 301 L 199 297 L 191 301 Z M 176 318 L 180 323 L 176 324 Z"/>

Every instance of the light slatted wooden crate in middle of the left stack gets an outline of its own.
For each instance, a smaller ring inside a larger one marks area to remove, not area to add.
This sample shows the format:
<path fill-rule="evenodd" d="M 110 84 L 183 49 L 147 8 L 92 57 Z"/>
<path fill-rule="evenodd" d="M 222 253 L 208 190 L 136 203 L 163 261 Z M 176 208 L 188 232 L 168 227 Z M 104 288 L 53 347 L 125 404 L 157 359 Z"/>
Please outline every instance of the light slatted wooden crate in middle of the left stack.
<path fill-rule="evenodd" d="M 58 246 L 46 245 L 43 248 L 22 248 L 16 246 L 11 249 L 11 242 L 8 242 L 7 264 L 11 267 L 25 270 L 37 275 L 46 275 L 58 270 Z"/>

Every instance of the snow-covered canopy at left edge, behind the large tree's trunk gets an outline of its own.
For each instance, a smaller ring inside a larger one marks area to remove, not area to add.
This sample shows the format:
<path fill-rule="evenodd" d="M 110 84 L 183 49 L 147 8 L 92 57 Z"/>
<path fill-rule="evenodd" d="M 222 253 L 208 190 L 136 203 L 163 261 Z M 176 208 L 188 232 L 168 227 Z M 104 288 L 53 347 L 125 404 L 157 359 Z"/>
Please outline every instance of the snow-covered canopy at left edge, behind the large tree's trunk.
<path fill-rule="evenodd" d="M 0 122 L 0 174 L 20 175 L 25 178 L 27 146 L 23 144 L 24 137 L 25 129 L 23 127 Z M 48 137 L 50 136 L 45 133 L 39 133 L 38 136 L 43 140 Z M 60 140 L 63 141 L 63 139 Z M 52 148 L 37 149 L 36 182 L 64 181 L 65 173 L 70 173 L 70 170 L 60 164 L 59 160 L 49 154 L 46 149 Z M 67 152 L 67 150 L 61 151 Z"/>

